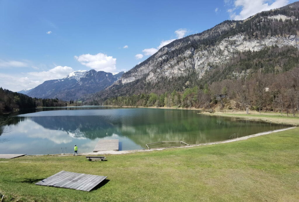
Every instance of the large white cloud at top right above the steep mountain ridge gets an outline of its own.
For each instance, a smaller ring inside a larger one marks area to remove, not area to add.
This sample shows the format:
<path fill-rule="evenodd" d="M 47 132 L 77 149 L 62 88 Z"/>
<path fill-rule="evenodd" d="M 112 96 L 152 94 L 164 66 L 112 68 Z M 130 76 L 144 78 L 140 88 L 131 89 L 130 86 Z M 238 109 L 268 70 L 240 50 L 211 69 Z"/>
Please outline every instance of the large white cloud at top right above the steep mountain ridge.
<path fill-rule="evenodd" d="M 229 4 L 230 1 L 225 3 Z M 289 0 L 275 0 L 272 4 L 267 3 L 267 0 L 235 0 L 234 7 L 228 9 L 231 19 L 243 20 L 256 13 L 283 7 L 289 3 Z M 240 13 L 234 12 L 236 9 L 241 9 Z"/>

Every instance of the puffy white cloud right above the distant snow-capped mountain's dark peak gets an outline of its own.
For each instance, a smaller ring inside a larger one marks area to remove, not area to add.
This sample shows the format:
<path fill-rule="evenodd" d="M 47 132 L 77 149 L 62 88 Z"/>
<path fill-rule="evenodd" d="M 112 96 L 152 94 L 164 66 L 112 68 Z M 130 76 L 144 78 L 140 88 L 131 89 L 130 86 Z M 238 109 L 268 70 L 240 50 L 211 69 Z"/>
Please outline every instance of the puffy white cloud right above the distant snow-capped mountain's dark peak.
<path fill-rule="evenodd" d="M 112 56 L 107 56 L 103 53 L 98 53 L 95 55 L 83 54 L 79 57 L 74 57 L 81 64 L 95 69 L 97 71 L 115 72 L 116 70 L 116 58 L 113 58 Z"/>

